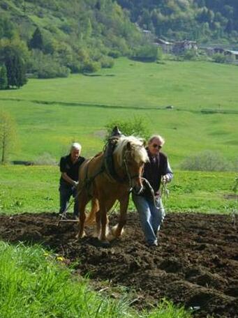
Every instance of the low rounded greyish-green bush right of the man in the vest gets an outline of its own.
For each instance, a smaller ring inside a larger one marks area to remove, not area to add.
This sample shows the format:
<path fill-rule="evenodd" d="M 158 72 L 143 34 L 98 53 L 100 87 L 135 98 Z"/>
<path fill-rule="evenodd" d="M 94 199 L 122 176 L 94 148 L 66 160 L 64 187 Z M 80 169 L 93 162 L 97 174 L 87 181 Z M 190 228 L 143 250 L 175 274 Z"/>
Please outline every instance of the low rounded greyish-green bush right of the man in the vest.
<path fill-rule="evenodd" d="M 192 171 L 232 171 L 235 169 L 216 151 L 203 151 L 186 158 L 180 165 L 181 169 Z"/>

